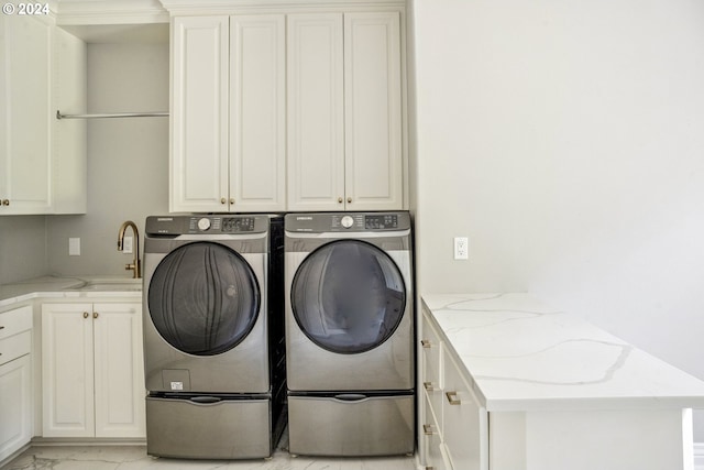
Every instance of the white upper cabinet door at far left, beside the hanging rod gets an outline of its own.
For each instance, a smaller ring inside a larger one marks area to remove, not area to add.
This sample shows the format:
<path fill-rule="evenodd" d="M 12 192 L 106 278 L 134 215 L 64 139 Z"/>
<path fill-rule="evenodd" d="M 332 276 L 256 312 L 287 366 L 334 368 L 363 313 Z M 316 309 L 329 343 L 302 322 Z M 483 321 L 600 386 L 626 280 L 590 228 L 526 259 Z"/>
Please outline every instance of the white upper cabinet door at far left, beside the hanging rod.
<path fill-rule="evenodd" d="M 46 20 L 0 17 L 0 215 L 52 209 L 51 51 Z"/>

